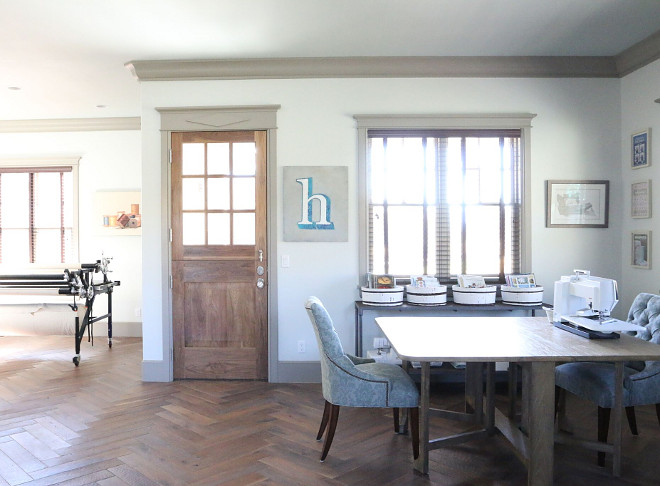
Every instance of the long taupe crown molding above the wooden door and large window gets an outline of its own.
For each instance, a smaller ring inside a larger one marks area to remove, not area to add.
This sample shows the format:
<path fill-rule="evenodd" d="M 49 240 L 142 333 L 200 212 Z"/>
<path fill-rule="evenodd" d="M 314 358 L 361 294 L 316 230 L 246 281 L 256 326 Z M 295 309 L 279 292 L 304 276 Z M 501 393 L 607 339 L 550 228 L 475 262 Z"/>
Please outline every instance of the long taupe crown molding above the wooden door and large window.
<path fill-rule="evenodd" d="M 131 61 L 140 81 L 297 79 L 578 77 L 616 78 L 614 57 L 329 57 Z"/>

